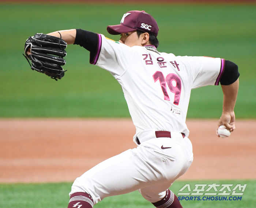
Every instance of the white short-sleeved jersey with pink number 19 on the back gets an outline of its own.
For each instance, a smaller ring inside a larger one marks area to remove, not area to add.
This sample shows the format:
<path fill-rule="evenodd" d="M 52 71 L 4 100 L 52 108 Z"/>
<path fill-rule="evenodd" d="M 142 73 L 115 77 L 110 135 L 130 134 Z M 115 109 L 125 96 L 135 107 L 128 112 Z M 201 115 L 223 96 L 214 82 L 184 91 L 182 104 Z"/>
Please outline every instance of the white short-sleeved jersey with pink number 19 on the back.
<path fill-rule="evenodd" d="M 108 70 L 122 86 L 136 134 L 147 130 L 185 133 L 191 89 L 218 85 L 225 68 L 221 58 L 175 56 L 154 46 L 114 42 L 98 34 L 91 64 Z M 136 142 L 135 142 L 136 143 Z"/>

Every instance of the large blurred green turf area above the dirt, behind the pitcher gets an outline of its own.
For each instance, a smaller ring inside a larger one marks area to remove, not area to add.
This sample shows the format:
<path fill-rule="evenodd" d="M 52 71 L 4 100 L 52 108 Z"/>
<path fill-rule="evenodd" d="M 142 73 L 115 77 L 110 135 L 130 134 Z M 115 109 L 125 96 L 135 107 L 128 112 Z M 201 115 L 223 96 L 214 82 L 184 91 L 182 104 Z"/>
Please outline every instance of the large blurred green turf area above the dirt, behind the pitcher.
<path fill-rule="evenodd" d="M 0 117 L 129 117 L 118 82 L 89 64 L 89 52 L 68 46 L 68 70 L 54 81 L 29 68 L 22 56 L 28 36 L 83 28 L 109 35 L 123 13 L 145 10 L 158 21 L 159 51 L 213 56 L 239 66 L 237 118 L 256 118 L 255 5 L 40 5 L 0 4 Z M 192 90 L 188 118 L 221 115 L 220 86 Z"/>

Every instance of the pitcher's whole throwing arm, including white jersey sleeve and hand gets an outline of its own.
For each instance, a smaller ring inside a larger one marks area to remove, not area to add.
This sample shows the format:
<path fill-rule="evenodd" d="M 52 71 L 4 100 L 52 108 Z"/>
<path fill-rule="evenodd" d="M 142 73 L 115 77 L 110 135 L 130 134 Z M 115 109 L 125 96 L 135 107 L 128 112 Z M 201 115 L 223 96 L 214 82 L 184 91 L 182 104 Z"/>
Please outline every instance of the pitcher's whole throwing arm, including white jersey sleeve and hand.
<path fill-rule="evenodd" d="M 219 85 L 223 91 L 222 115 L 218 121 L 218 127 L 224 125 L 230 132 L 235 129 L 234 106 L 238 93 L 238 66 L 225 59 L 210 57 L 187 57 L 191 63 L 192 89 L 206 85 Z"/>

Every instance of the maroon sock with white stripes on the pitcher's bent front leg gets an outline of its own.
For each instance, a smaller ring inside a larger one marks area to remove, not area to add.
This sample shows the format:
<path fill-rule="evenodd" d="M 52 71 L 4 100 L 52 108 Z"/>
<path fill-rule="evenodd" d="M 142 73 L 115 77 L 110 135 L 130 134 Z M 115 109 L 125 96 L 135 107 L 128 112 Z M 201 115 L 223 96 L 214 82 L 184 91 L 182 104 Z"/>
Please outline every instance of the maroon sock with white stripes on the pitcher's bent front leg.
<path fill-rule="evenodd" d="M 68 208 L 93 208 L 93 199 L 88 193 L 76 192 L 70 196 Z"/>

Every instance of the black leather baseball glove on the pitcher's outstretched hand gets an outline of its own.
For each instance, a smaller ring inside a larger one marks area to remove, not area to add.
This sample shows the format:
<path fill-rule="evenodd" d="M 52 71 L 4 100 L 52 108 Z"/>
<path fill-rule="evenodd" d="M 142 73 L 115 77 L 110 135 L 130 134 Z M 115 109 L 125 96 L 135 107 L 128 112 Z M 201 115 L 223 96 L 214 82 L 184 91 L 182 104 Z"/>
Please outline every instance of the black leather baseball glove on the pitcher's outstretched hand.
<path fill-rule="evenodd" d="M 25 58 L 32 63 L 31 69 L 44 73 L 52 79 L 61 79 L 64 76 L 64 70 L 61 66 L 65 65 L 63 59 L 67 52 L 64 50 L 67 43 L 55 36 L 37 33 L 30 36 L 25 43 Z M 27 51 L 31 50 L 31 54 L 27 55 Z"/>

